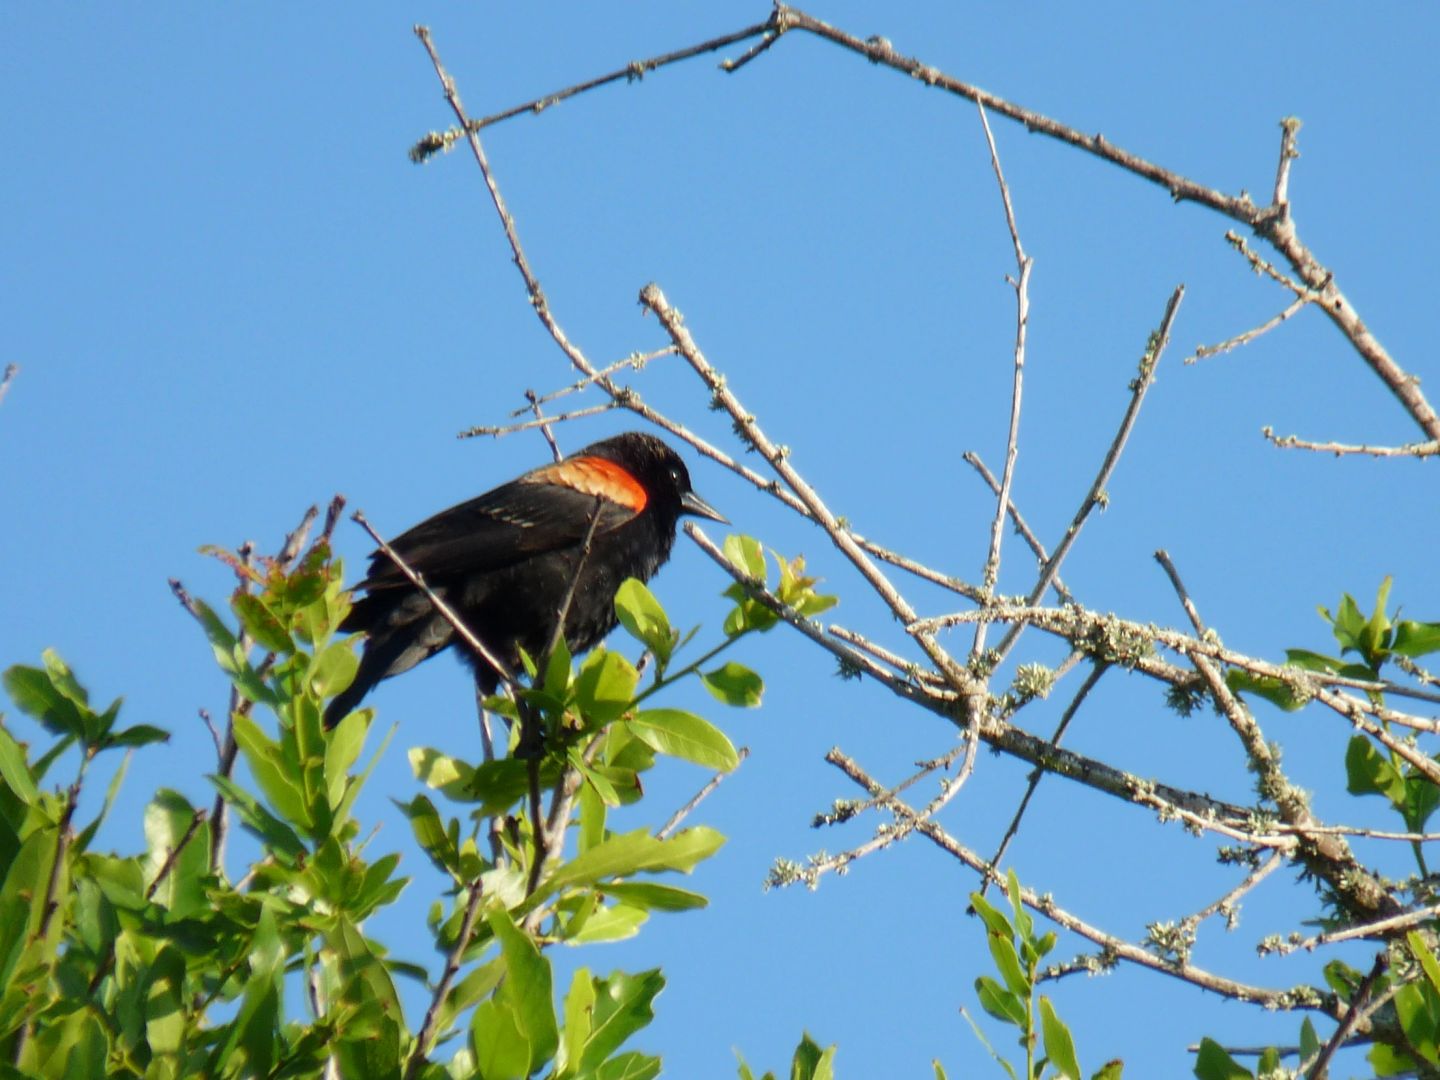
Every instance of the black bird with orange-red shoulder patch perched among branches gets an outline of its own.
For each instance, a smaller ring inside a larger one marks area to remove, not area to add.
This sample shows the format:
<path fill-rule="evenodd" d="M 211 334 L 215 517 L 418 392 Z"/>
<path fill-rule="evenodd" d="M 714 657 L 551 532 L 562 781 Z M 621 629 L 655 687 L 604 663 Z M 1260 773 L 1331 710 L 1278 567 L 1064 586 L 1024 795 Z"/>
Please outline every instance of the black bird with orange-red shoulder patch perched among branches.
<path fill-rule="evenodd" d="M 441 511 L 390 546 L 497 660 L 517 671 L 520 648 L 539 660 L 550 645 L 592 517 L 590 550 L 564 619 L 564 641 L 576 654 L 615 628 L 621 582 L 649 580 L 670 557 L 681 514 L 726 520 L 690 490 L 690 472 L 675 451 L 654 435 L 628 432 Z M 366 596 L 340 629 L 369 639 L 354 683 L 325 708 L 325 727 L 340 723 L 382 678 L 459 641 L 384 552 L 370 556 L 370 576 L 356 588 Z M 459 648 L 475 684 L 492 694 L 498 672 L 462 641 Z"/>

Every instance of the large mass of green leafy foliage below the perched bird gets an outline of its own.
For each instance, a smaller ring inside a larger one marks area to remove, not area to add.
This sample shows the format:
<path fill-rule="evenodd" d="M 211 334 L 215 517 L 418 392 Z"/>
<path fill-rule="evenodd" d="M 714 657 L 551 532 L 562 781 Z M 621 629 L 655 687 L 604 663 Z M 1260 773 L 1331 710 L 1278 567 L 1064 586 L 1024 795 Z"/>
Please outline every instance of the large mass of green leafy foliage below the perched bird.
<path fill-rule="evenodd" d="M 727 547 L 759 552 L 740 539 Z M 739 763 L 708 720 L 642 703 L 694 677 L 724 704 L 759 704 L 760 677 L 716 658 L 775 619 L 734 596 L 724 636 L 687 662 L 694 632 L 680 635 L 654 595 L 626 582 L 616 613 L 654 658 L 645 685 L 622 654 L 595 649 L 576 667 L 562 644 L 533 662 L 540 675 L 516 701 L 492 701 L 505 721 L 500 755 L 409 752 L 423 791 L 396 805 L 449 883 L 431 907 L 438 959 L 426 969 L 363 929 L 409 883 L 397 854 L 359 842 L 353 816 L 389 736 L 361 763 L 373 710 L 331 732 L 321 723 L 356 672 L 356 642 L 336 636 L 348 611 L 341 566 L 323 543 L 289 564 L 216 554 L 242 577 L 230 618 L 186 599 L 239 694 L 229 723 L 245 768 L 212 780 L 258 855 L 232 880 L 217 822 L 170 789 L 145 809 L 144 851 L 95 851 L 124 766 L 79 827 L 86 769 L 166 733 L 121 727 L 118 700 L 94 708 L 53 652 L 10 668 L 10 698 L 52 742 L 35 757 L 0 723 L 0 1060 L 26 1074 L 118 1077 L 312 1076 L 327 1058 L 341 1076 L 658 1076 L 658 1057 L 625 1047 L 654 1015 L 661 973 L 580 969 L 557 1007 L 547 950 L 631 936 L 654 912 L 706 904 L 655 878 L 691 871 L 724 842 L 719 832 L 613 832 L 606 815 L 642 798 L 641 776 L 661 757 Z M 788 603 L 827 602 L 799 560 L 779 564 Z M 516 753 L 523 730 L 534 733 L 528 756 Z M 46 791 L 46 772 L 72 749 L 73 783 Z M 423 1024 L 405 1015 L 400 978 L 432 988 Z M 298 985 L 302 1002 L 287 996 Z M 448 1064 L 432 1063 L 436 1053 Z M 793 1074 L 829 1077 L 831 1056 L 806 1040 Z"/>

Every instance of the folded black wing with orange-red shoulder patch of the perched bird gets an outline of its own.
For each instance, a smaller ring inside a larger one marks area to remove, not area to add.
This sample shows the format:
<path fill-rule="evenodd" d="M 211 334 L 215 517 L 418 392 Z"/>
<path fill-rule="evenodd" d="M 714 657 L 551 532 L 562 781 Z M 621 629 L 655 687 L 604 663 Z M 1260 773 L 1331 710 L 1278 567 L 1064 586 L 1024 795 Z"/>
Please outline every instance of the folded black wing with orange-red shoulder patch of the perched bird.
<path fill-rule="evenodd" d="M 595 534 L 619 528 L 645 507 L 644 490 L 605 490 L 586 482 L 593 471 L 580 458 L 536 469 L 494 491 L 442 510 L 390 541 L 395 553 L 428 580 L 452 573 L 487 573 L 585 540 L 590 517 Z M 622 498 L 616 498 L 619 494 Z M 408 586 L 384 552 L 370 556 L 361 588 L 374 592 Z"/>

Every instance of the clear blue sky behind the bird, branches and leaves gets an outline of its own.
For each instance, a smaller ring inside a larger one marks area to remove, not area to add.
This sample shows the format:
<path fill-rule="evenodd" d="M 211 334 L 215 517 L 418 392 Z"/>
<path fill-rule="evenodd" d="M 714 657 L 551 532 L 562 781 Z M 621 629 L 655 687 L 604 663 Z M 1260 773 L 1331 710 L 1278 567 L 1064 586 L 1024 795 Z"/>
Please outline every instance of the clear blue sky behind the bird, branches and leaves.
<path fill-rule="evenodd" d="M 22 373 L 0 406 L 0 664 L 58 648 L 96 697 L 174 732 L 141 755 L 105 840 L 141 844 L 157 785 L 207 801 L 199 707 L 225 685 L 166 579 L 215 602 L 226 573 L 196 549 L 278 546 L 311 503 L 343 491 L 384 531 L 544 459 L 539 436 L 458 442 L 501 422 L 526 387 L 570 379 L 528 310 L 478 171 L 456 153 L 406 160 L 451 114 L 410 24 L 435 42 L 474 114 L 628 60 L 762 20 L 768 4 L 161 6 L 0 9 L 0 363 Z M 1292 194 L 1316 253 L 1410 370 L 1434 367 L 1434 212 L 1440 14 L 1427 4 L 891 4 L 814 9 L 883 33 L 959 78 L 1215 187 L 1263 197 L 1277 121 L 1305 120 Z M 737 50 L 730 50 L 734 55 Z M 1146 334 L 1179 282 L 1175 344 L 1064 576 L 1094 606 L 1184 621 L 1151 560 L 1166 547 L 1205 618 L 1234 647 L 1325 648 L 1316 603 L 1367 605 L 1385 573 L 1416 618 L 1440 618 L 1433 465 L 1280 452 L 1279 432 L 1351 442 L 1418 438 L 1315 312 L 1195 367 L 1179 359 L 1254 325 L 1287 297 L 1223 240 L 1227 222 L 1117 170 L 1027 135 L 995 134 L 1035 258 L 1015 497 L 1054 543 L 1094 474 Z M 999 464 L 1008 418 L 1012 271 L 975 109 L 796 35 L 742 73 L 670 68 L 487 134 L 500 183 L 552 304 L 596 361 L 655 347 L 638 289 L 657 281 L 711 360 L 829 504 L 883 541 L 979 576 L 992 501 L 960 462 Z M 1440 380 L 1437 380 L 1440 382 Z M 734 448 L 678 364 L 638 382 L 647 400 Z M 621 426 L 562 432 L 576 448 Z M 804 552 L 844 598 L 832 613 L 903 647 L 822 534 L 694 462 L 697 488 L 743 530 Z M 340 530 L 351 564 L 369 543 Z M 1031 562 L 1008 549 L 1001 588 Z M 726 580 L 688 543 L 657 580 L 680 624 L 714 631 Z M 916 590 L 926 613 L 943 596 Z M 956 641 L 958 648 L 963 648 Z M 1034 642 L 1022 658 L 1056 660 Z M 776 632 L 744 660 L 769 681 L 757 713 L 716 716 L 752 759 L 697 815 L 730 837 L 696 887 L 700 914 L 654 920 L 590 949 L 599 971 L 660 963 L 670 986 L 639 1045 L 668 1076 L 733 1074 L 730 1047 L 783 1068 L 802 1030 L 840 1044 L 847 1077 L 992 1074 L 956 1008 L 978 1011 L 988 971 L 975 887 L 922 841 L 867 860 L 818 893 L 762 894 L 778 857 L 858 842 L 809 819 L 854 789 L 824 765 L 838 744 L 897 780 L 953 732 Z M 1048 732 L 1067 694 L 1028 713 Z M 475 755 L 468 680 L 439 660 L 374 696 L 399 721 L 361 816 L 409 842 L 387 796 L 409 798 L 403 750 Z M 703 706 L 701 698 L 693 704 Z M 1380 821 L 1342 792 L 1332 717 L 1263 716 L 1326 819 Z M 10 720 L 7 720 L 10 723 Z M 1074 746 L 1140 775 L 1246 801 L 1228 732 L 1179 720 L 1161 693 L 1110 677 Z M 1025 770 L 982 755 L 945 824 L 989 850 Z M 655 778 L 658 821 L 703 782 Z M 1079 914 L 1138 939 L 1234 881 L 1192 840 L 1047 780 L 1014 860 Z M 428 865 L 372 932 L 435 962 L 415 927 Z M 1315 913 L 1287 873 L 1240 930 L 1202 933 L 1197 960 L 1263 985 L 1315 979 L 1318 958 L 1257 960 L 1261 933 Z M 1068 956 L 1077 945 L 1063 942 Z M 1362 953 L 1351 953 L 1355 960 Z M 1168 979 L 1122 971 L 1054 991 L 1083 1064 L 1136 1077 L 1189 1071 L 1185 1045 L 1293 1043 L 1264 1017 Z M 408 1002 L 416 1015 L 419 994 Z M 991 1025 L 1009 1050 L 1008 1035 Z M 1352 1071 L 1364 1070 L 1358 1060 Z"/>

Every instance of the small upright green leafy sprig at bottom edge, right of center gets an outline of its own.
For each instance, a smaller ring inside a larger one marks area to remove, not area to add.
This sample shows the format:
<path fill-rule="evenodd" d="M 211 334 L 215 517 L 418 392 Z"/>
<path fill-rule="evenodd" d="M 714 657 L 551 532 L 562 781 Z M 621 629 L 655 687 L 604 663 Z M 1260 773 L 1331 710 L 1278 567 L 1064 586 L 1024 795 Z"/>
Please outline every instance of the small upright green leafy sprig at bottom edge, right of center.
<path fill-rule="evenodd" d="M 1007 899 L 1008 913 L 991 904 L 979 893 L 971 893 L 971 906 L 985 926 L 985 942 L 995 972 L 999 975 L 999 979 L 989 975 L 975 979 L 975 994 L 985 1012 L 1018 1030 L 1017 1043 L 1025 1051 L 1024 1073 L 1002 1058 L 985 1038 L 985 1032 L 971 1021 L 975 1035 L 1012 1080 L 1021 1076 L 1025 1080 L 1041 1080 L 1041 1077 L 1081 1080 L 1084 1074 L 1080 1071 L 1070 1028 L 1060 1020 L 1054 1002 L 1040 994 L 1040 984 L 1044 981 L 1041 960 L 1056 948 L 1056 935 L 1035 933 L 1034 920 L 1021 901 L 1020 880 L 1014 870 L 1007 876 Z M 1043 1051 L 1038 1057 L 1037 1050 Z M 935 1070 L 937 1077 L 945 1076 L 939 1063 Z M 1096 1071 L 1092 1080 L 1120 1080 L 1122 1071 L 1120 1061 L 1110 1061 Z"/>

